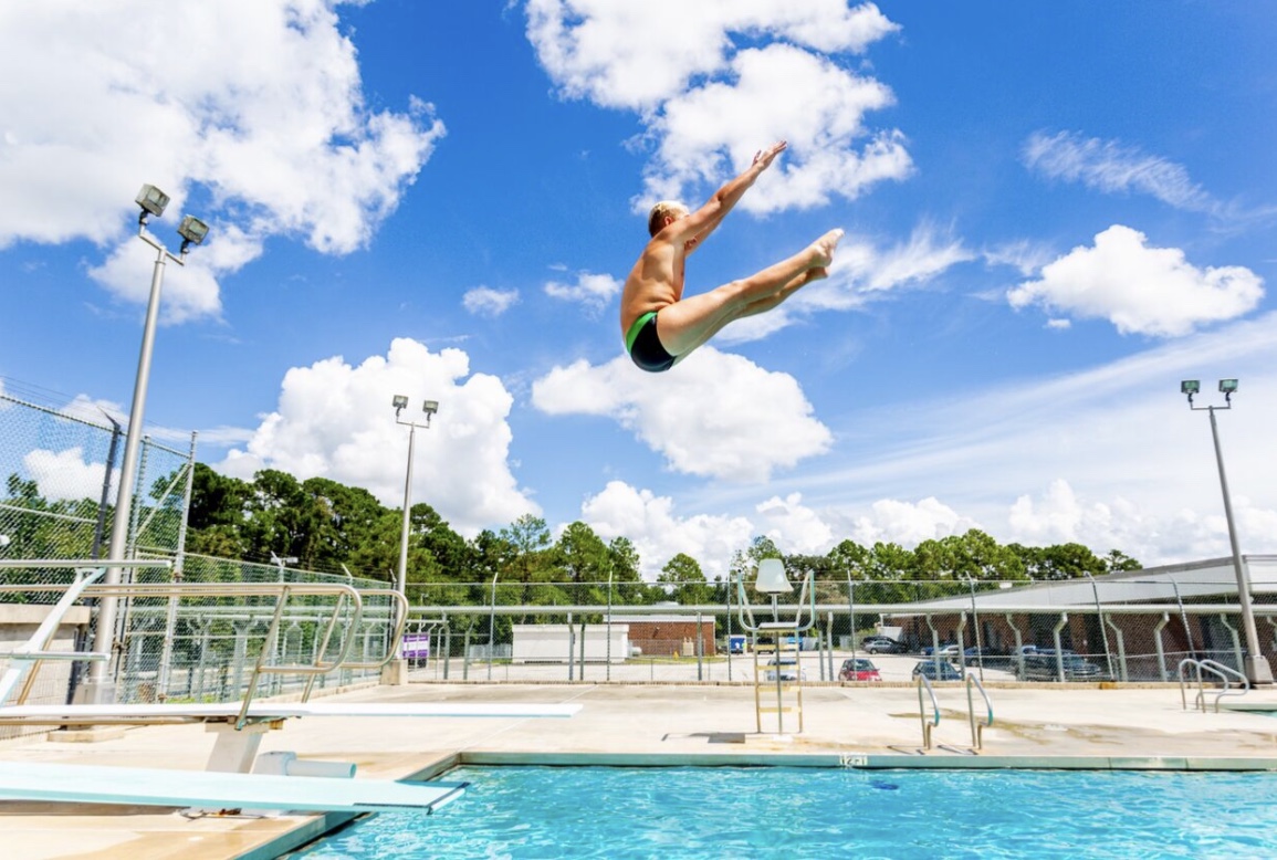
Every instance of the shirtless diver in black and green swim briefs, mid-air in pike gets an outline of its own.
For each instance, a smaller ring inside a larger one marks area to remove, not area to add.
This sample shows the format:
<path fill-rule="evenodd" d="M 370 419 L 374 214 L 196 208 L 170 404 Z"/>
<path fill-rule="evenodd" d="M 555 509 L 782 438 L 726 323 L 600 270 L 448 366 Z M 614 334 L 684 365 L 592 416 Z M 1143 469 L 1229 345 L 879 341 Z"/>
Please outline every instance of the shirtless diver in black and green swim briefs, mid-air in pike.
<path fill-rule="evenodd" d="M 842 230 L 830 230 L 798 254 L 757 274 L 683 299 L 687 255 L 714 232 L 784 148 L 782 140 L 760 151 L 743 174 L 715 191 L 696 212 L 672 200 L 653 207 L 647 218 L 651 241 L 626 278 L 621 295 L 626 350 L 644 370 L 669 370 L 728 323 L 771 310 L 798 287 L 827 276 L 825 267 L 834 259 Z"/>

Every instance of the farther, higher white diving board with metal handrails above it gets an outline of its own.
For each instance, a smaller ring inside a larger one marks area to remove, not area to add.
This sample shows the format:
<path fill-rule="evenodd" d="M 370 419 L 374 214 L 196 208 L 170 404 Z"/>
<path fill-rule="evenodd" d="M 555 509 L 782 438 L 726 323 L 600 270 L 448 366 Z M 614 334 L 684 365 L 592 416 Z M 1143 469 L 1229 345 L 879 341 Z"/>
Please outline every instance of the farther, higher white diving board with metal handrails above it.
<path fill-rule="evenodd" d="M 225 720 L 239 717 L 243 704 L 15 704 L 0 708 L 0 722 L 59 721 L 87 725 L 109 720 Z M 291 717 L 571 717 L 580 704 L 464 704 L 455 702 L 263 702 L 249 704 L 248 720 Z"/>

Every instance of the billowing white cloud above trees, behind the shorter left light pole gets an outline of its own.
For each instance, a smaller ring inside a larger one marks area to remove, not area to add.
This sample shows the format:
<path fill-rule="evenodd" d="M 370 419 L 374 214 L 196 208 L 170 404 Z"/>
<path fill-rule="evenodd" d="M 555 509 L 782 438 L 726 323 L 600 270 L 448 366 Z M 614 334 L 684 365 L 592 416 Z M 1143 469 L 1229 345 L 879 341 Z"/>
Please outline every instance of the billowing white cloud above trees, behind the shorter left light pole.
<path fill-rule="evenodd" d="M 427 397 L 439 402 L 432 426 L 416 431 L 414 503 L 429 503 L 466 536 L 538 512 L 510 471 L 513 398 L 501 380 L 470 374 L 461 350 L 433 353 L 406 338 L 358 366 L 332 357 L 291 369 L 276 411 L 218 470 L 244 478 L 262 468 L 322 476 L 400 507 L 409 430 L 395 422 L 393 394 L 409 396 L 414 408 Z"/>

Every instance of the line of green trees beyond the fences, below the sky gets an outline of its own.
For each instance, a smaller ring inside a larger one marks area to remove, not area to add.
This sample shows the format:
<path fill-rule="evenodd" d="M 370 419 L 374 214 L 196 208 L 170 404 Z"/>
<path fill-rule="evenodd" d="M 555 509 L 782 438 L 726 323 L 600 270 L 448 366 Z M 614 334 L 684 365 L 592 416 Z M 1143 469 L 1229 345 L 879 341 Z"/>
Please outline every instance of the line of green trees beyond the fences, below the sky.
<path fill-rule="evenodd" d="M 170 478 L 171 480 L 171 478 Z M 157 487 L 169 480 L 157 482 Z M 34 481 L 9 476 L 5 510 L 38 510 L 50 517 L 23 518 L 6 527 L 10 558 L 86 558 L 83 532 L 60 527 L 68 517 L 91 518 L 97 501 L 49 501 Z M 180 512 L 166 512 L 179 517 Z M 244 561 L 272 556 L 321 573 L 346 572 L 393 582 L 398 569 L 402 510 L 386 508 L 370 493 L 328 478 L 298 481 L 277 470 L 262 470 L 252 481 L 218 475 L 195 464 L 186 551 Z M 1070 579 L 1085 574 L 1134 570 L 1140 564 L 1120 550 L 1098 556 L 1080 544 L 1000 545 L 978 530 L 927 540 L 908 550 L 899 544 L 866 547 L 844 540 L 824 555 L 785 555 L 766 537 L 734 554 L 732 575 L 759 559 L 780 558 L 792 575 L 811 572 L 822 583 L 821 600 L 845 593 L 848 581 L 865 602 L 904 602 L 955 593 L 955 587 L 990 587 L 994 581 Z M 604 541 L 590 526 L 573 522 L 558 538 L 545 521 L 524 515 L 499 531 L 484 530 L 466 540 L 427 503 L 412 505 L 407 555 L 409 597 L 414 604 L 499 604 L 571 606 L 651 604 L 722 604 L 727 581 L 707 581 L 697 559 L 679 552 L 667 559 L 655 582 L 640 577 L 640 558 L 627 537 Z M 499 583 L 495 595 L 485 583 Z M 609 589 L 607 583 L 612 583 Z"/>

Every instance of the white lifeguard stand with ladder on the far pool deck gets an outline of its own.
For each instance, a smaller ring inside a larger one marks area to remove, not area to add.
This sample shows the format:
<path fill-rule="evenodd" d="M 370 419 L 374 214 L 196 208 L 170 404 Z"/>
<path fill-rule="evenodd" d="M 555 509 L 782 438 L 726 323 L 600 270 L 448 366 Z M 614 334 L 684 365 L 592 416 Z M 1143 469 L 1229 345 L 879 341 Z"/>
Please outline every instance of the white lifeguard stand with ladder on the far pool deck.
<path fill-rule="evenodd" d="M 776 734 L 784 734 L 787 713 L 798 715 L 798 731 L 802 725 L 802 681 L 803 670 L 799 648 L 802 634 L 810 630 L 816 620 L 815 606 L 808 606 L 806 619 L 803 606 L 811 592 L 811 573 L 802 579 L 798 602 L 793 606 L 793 616 L 780 618 L 780 595 L 793 593 L 793 583 L 785 575 L 785 565 L 780 559 L 759 561 L 753 589 L 771 598 L 771 620 L 755 621 L 753 610 L 744 591 L 744 575 L 737 579 L 739 595 L 741 626 L 748 630 L 753 644 L 753 709 L 759 734 L 762 734 L 762 715 L 776 715 Z M 788 609 L 788 607 L 787 607 Z M 775 693 L 775 704 L 764 704 L 762 688 Z"/>

